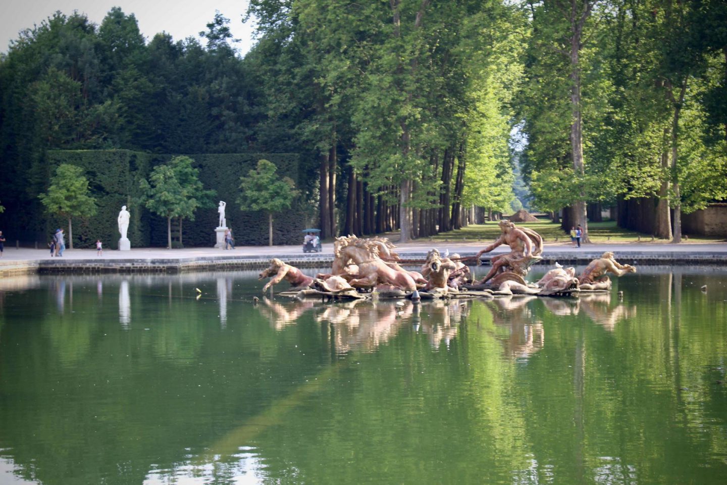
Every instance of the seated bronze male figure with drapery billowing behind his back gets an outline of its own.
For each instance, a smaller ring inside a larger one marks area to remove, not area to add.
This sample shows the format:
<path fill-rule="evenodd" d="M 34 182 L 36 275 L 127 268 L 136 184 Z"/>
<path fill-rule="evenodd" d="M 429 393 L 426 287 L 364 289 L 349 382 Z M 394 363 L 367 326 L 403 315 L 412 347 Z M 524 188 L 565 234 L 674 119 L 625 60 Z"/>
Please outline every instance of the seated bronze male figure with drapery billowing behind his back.
<path fill-rule="evenodd" d="M 477 253 L 477 260 L 482 254 L 490 252 L 502 244 L 510 246 L 510 252 L 497 254 L 491 258 L 492 269 L 480 283 L 485 284 L 492 278 L 505 273 L 512 273 L 513 276 L 510 278 L 513 281 L 524 283 L 530 266 L 542 259 L 540 256 L 543 252 L 542 237 L 530 228 L 518 228 L 509 220 L 501 220 L 498 225 L 502 234 L 494 243 Z M 498 283 L 505 279 L 507 278 L 499 277 Z"/>

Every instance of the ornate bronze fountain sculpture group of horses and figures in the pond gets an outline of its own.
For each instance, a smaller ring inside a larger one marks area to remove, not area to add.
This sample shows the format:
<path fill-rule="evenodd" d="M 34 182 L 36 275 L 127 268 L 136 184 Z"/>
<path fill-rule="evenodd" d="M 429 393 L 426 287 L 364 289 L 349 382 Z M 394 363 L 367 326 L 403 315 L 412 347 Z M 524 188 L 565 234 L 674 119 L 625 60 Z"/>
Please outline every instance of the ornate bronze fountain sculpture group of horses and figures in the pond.
<path fill-rule="evenodd" d="M 334 260 L 330 273 L 307 276 L 298 268 L 277 258 L 270 260 L 270 267 L 260 273 L 260 278 L 270 278 L 263 292 L 270 286 L 288 281 L 292 286 L 289 294 L 329 294 L 336 297 L 364 298 L 369 292 L 389 296 L 414 297 L 473 297 L 492 294 L 556 295 L 581 292 L 605 292 L 611 289 L 607 273 L 622 276 L 635 273 L 632 265 L 622 265 L 614 259 L 613 252 L 604 252 L 590 262 L 580 276 L 575 268 L 563 268 L 557 262 L 555 268 L 535 283 L 525 277 L 531 265 L 542 260 L 542 237 L 530 228 L 518 228 L 508 220 L 500 221 L 502 234 L 475 257 L 459 257 L 459 254 L 440 254 L 430 249 L 419 271 L 407 270 L 406 263 L 395 252 L 395 246 L 386 238 L 358 238 L 341 236 L 334 242 Z M 510 246 L 510 252 L 491 258 L 492 268 L 479 281 L 473 281 L 470 268 L 465 264 L 479 262 L 482 254 L 497 246 Z M 411 261 L 408 262 L 411 264 Z M 421 292 L 421 293 L 419 293 Z"/>

